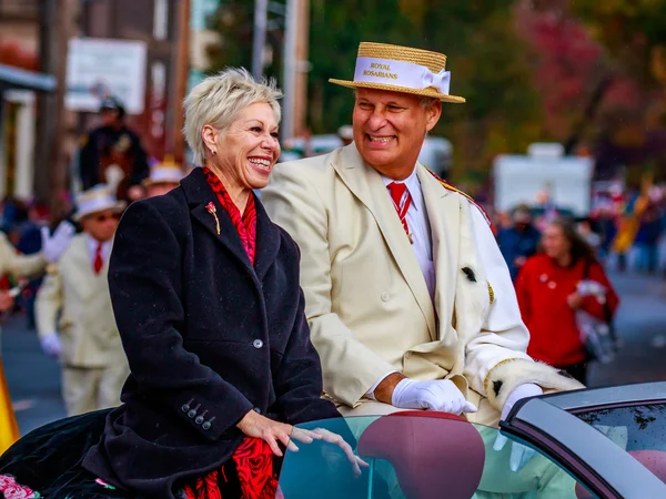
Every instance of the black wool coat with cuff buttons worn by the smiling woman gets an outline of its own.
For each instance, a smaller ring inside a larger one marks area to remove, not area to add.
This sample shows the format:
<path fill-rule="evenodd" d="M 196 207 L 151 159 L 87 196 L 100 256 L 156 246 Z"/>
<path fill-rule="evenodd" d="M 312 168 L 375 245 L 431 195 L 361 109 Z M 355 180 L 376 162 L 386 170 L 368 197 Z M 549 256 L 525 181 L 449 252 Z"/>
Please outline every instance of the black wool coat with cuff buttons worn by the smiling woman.
<path fill-rule="evenodd" d="M 122 217 L 109 284 L 132 374 L 83 461 L 110 483 L 170 497 L 231 457 L 252 409 L 289 424 L 340 417 L 320 398 L 299 248 L 255 202 L 254 267 L 201 169 Z"/>

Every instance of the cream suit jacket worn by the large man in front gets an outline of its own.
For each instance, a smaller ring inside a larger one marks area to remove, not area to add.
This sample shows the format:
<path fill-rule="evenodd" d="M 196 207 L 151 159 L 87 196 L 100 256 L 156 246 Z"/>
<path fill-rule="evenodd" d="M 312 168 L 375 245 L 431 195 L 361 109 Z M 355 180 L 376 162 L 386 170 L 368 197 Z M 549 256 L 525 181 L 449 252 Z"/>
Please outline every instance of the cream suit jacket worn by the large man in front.
<path fill-rule="evenodd" d="M 416 170 L 432 231 L 434 303 L 381 175 L 354 144 L 275 165 L 262 192 L 271 218 L 301 248 L 305 313 L 324 390 L 350 407 L 365 401 L 392 370 L 414 379 L 452 378 L 466 396 L 470 387 L 476 391 L 474 403 L 478 394 L 490 396 L 494 368 L 509 360 L 534 364 L 506 264 L 484 216 L 421 164 Z M 465 266 L 474 269 L 474 282 Z M 505 386 L 538 377 L 505 375 Z M 546 387 L 557 385 L 551 381 Z M 506 394 L 498 388 L 488 398 L 501 410 Z"/>

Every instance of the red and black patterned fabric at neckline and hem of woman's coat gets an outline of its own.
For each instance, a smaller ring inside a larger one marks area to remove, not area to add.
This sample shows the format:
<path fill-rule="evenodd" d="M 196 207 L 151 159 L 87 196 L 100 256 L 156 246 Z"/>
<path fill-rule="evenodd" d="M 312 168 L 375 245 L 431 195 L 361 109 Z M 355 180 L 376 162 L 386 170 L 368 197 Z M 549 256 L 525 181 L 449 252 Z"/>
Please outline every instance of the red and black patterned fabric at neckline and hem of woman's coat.
<path fill-rule="evenodd" d="M 256 249 L 256 208 L 254 196 L 250 195 L 245 212 L 233 204 L 229 192 L 220 179 L 209 169 L 203 169 L 209 185 L 235 226 L 248 257 L 254 265 Z M 209 212 L 216 216 L 214 204 Z M 234 476 L 235 475 L 235 476 Z M 240 490 L 239 490 L 240 489 Z M 239 496 L 240 492 L 240 496 Z M 205 477 L 185 483 L 182 496 L 186 499 L 273 499 L 282 497 L 278 490 L 278 476 L 273 468 L 273 452 L 269 445 L 259 438 L 246 437 L 232 456 L 231 462 Z"/>

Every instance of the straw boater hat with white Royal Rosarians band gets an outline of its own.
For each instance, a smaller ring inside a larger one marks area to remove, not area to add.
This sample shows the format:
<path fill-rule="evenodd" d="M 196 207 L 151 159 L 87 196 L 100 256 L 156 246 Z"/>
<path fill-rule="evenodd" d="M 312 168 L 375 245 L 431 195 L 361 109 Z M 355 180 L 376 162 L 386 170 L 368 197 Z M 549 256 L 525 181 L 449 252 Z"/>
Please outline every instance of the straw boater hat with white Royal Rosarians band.
<path fill-rule="evenodd" d="M 385 43 L 361 42 L 354 81 L 329 80 L 350 89 L 379 89 L 432 96 L 443 102 L 462 103 L 465 99 L 448 94 L 451 72 L 445 71 L 446 55 L 428 50 Z"/>

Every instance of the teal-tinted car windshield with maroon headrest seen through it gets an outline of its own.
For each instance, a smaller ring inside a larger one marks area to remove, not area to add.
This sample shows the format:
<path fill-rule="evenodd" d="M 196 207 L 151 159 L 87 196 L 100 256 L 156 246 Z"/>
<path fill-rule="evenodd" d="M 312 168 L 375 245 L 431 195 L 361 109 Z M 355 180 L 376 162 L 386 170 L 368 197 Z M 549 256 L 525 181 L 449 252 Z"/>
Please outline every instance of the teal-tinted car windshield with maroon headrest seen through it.
<path fill-rule="evenodd" d="M 300 444 L 301 430 L 316 430 L 325 439 Z M 363 459 L 360 476 L 350 456 L 325 441 L 331 434 L 343 436 L 350 452 Z M 512 440 L 502 445 L 498 435 L 495 428 L 425 411 L 300 425 L 292 435 L 299 450 L 285 455 L 280 490 L 287 499 L 594 497 L 554 460 Z"/>

